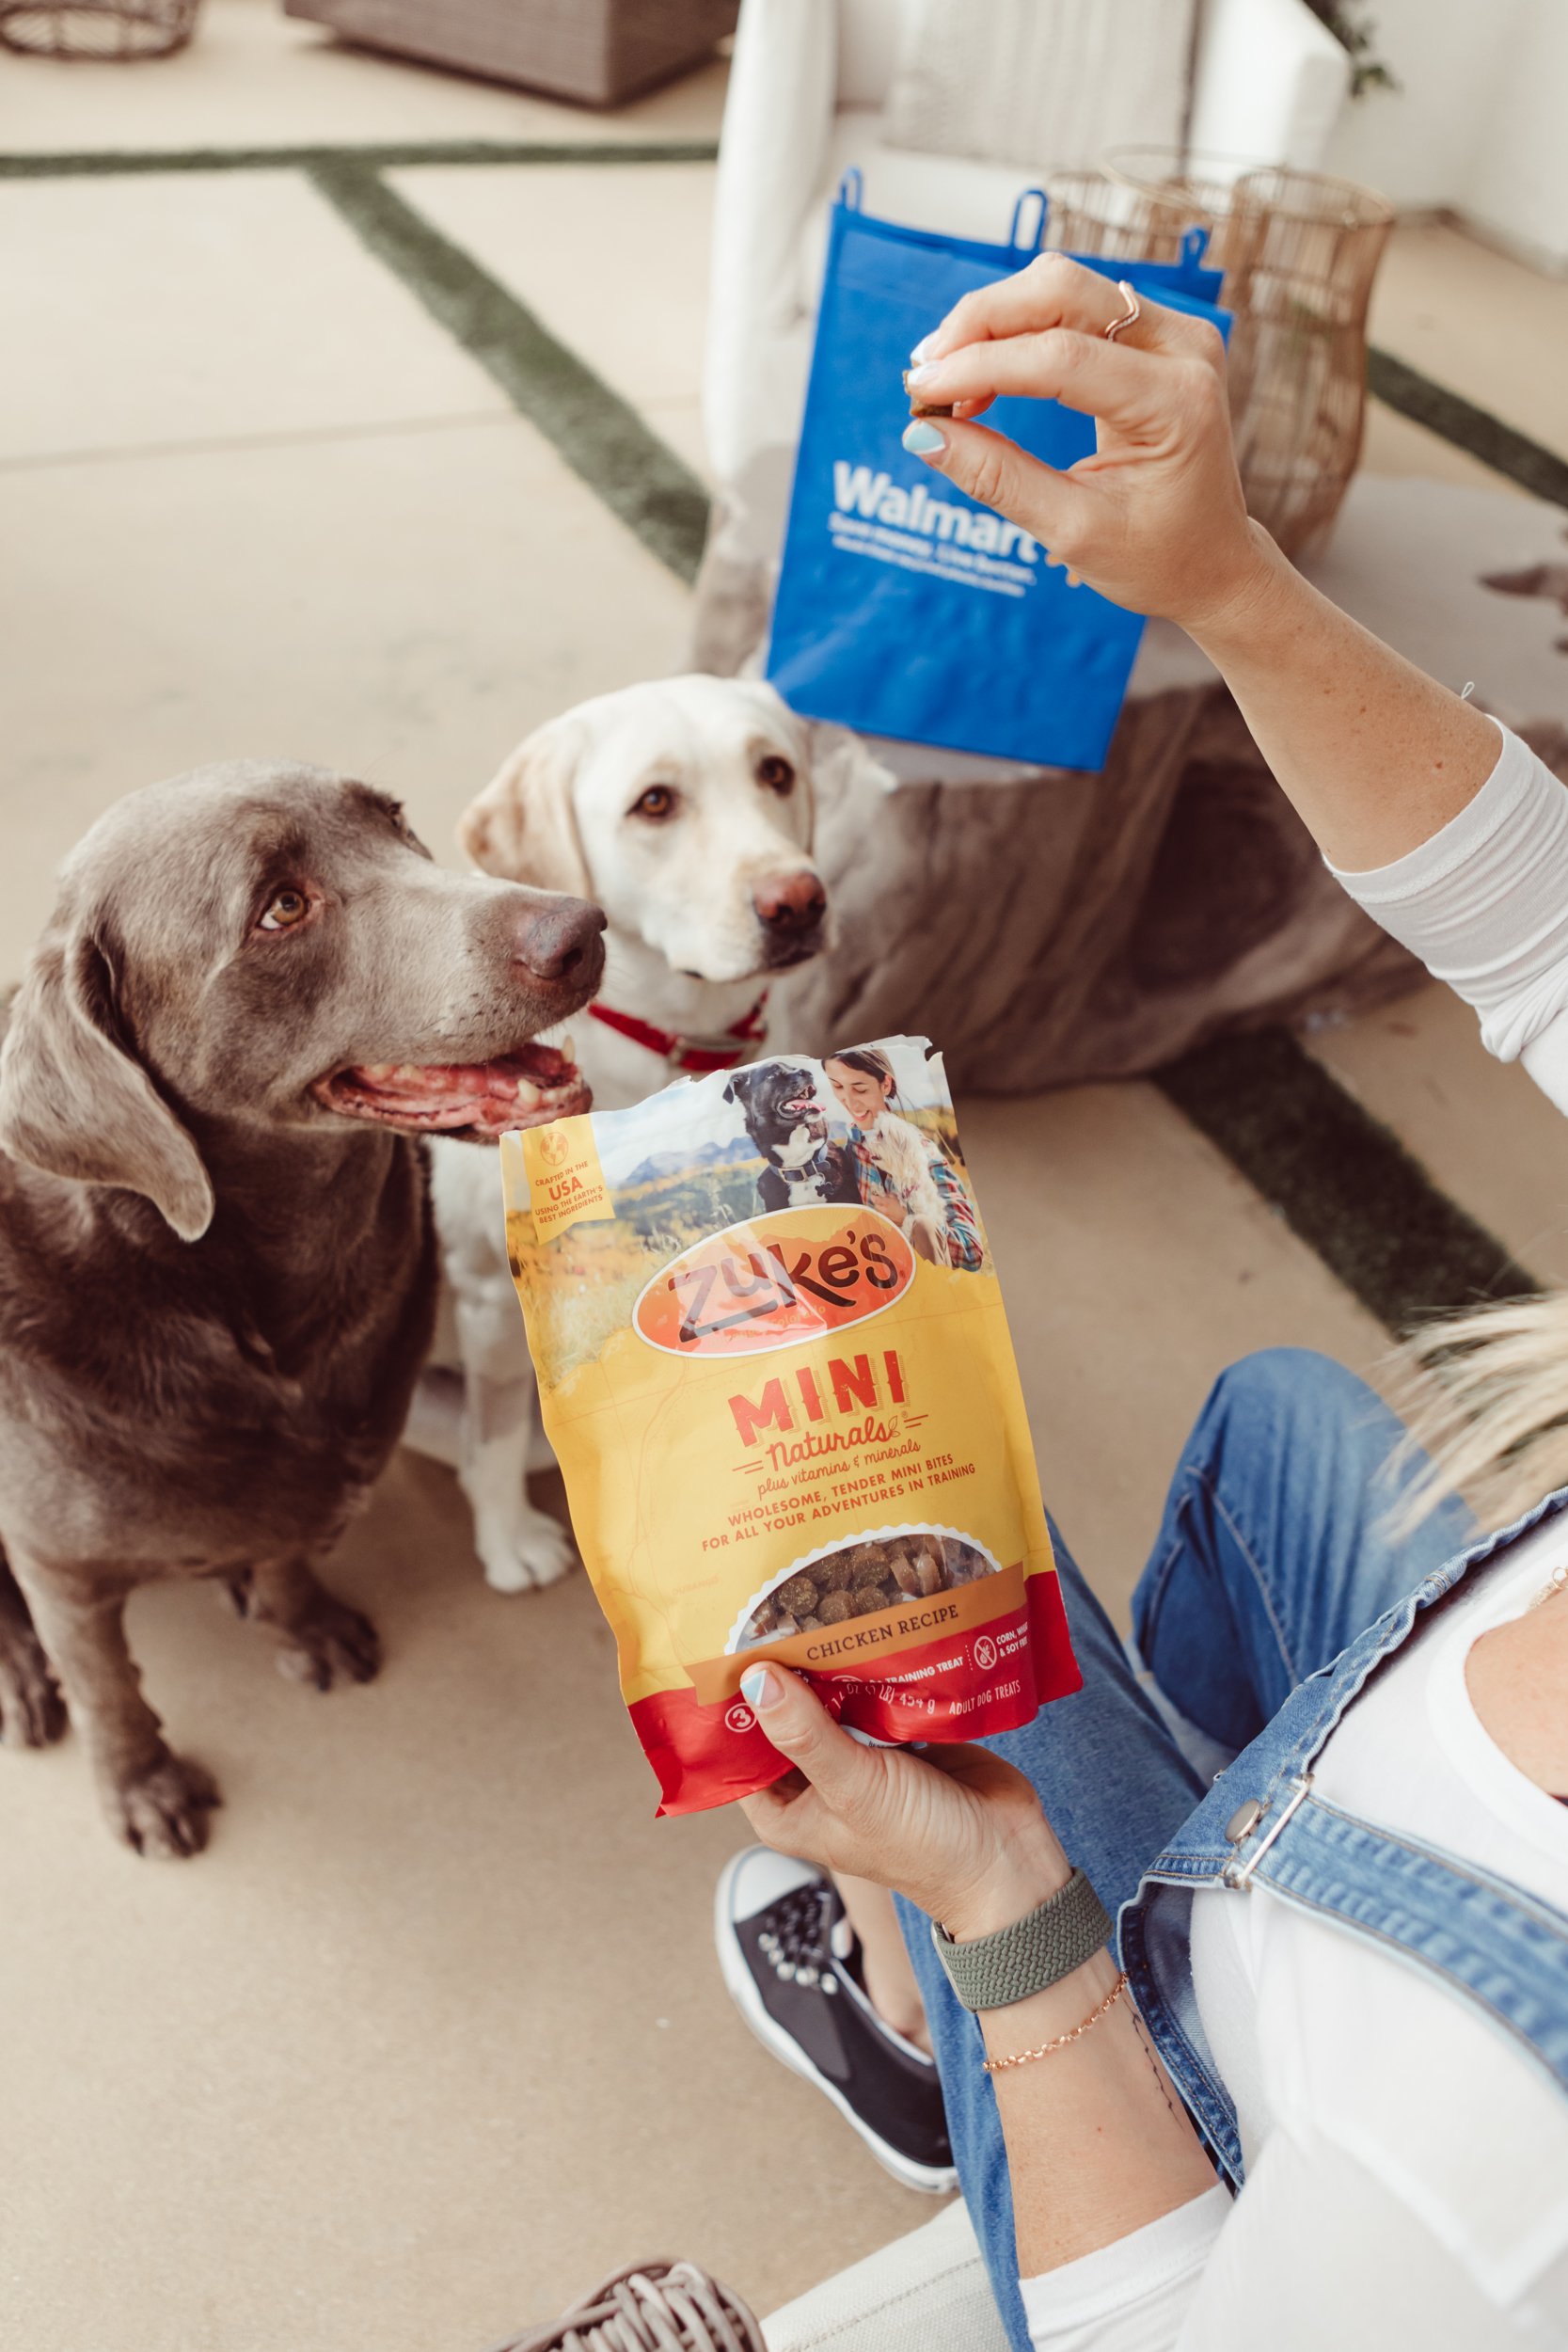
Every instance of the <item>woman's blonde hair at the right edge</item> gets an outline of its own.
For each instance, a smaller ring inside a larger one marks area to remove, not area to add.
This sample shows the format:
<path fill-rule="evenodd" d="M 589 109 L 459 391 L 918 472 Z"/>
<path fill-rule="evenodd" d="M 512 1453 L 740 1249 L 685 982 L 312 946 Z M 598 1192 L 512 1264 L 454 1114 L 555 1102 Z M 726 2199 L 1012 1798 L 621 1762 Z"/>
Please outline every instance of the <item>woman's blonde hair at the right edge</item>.
<path fill-rule="evenodd" d="M 1568 1291 L 1427 1324 L 1394 1357 L 1394 1404 L 1410 1432 L 1394 1465 L 1429 1456 L 1394 1512 L 1399 1534 L 1453 1491 L 1505 1526 L 1568 1486 Z"/>

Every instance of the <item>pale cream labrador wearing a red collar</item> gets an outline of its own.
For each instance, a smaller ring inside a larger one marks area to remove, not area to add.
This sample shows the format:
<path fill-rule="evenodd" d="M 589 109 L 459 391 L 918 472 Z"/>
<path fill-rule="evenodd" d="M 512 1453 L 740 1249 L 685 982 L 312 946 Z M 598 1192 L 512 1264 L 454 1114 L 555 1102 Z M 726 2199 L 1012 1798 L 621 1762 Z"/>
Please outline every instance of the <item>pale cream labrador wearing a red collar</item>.
<path fill-rule="evenodd" d="M 599 995 L 574 1021 L 576 1044 L 552 1040 L 599 1110 L 762 1051 L 769 976 L 825 946 L 813 821 L 806 724 L 771 687 L 733 677 L 578 703 L 465 811 L 458 840 L 484 873 L 595 898 L 609 917 Z M 433 1167 L 447 1312 L 407 1437 L 456 1465 L 484 1576 L 522 1592 L 555 1583 L 574 1552 L 524 1486 L 548 1449 L 501 1171 L 494 1150 L 442 1138 Z"/>

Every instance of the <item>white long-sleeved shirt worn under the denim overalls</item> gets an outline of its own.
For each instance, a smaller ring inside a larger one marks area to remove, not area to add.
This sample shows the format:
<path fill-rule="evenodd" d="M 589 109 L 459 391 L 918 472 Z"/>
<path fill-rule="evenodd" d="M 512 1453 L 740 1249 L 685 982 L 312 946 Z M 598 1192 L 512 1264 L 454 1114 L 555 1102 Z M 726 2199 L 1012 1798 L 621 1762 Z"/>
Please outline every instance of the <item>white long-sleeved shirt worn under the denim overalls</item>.
<path fill-rule="evenodd" d="M 1568 790 L 1512 734 L 1476 797 L 1347 891 L 1568 1112 Z M 1316 1788 L 1568 1912 L 1568 1806 L 1483 1731 L 1474 1639 L 1568 1564 L 1521 1538 L 1410 1637 L 1328 1738 Z M 1561 1604 L 1559 1604 L 1561 1606 Z M 1023 2281 L 1039 2352 L 1568 2347 L 1568 2100 L 1481 2013 L 1267 1886 L 1192 1903 L 1199 2011 L 1246 2187 Z"/>

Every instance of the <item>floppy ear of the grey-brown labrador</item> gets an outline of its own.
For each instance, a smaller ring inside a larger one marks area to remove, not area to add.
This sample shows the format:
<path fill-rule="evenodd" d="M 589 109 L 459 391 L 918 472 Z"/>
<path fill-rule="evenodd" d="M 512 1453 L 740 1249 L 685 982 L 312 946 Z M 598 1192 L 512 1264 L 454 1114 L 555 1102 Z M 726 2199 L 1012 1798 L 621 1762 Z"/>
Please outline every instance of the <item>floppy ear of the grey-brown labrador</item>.
<path fill-rule="evenodd" d="M 103 946 L 89 934 L 45 938 L 0 1047 L 0 1150 L 47 1176 L 143 1192 L 181 1242 L 197 1242 L 212 1223 L 212 1181 L 115 1030 Z"/>

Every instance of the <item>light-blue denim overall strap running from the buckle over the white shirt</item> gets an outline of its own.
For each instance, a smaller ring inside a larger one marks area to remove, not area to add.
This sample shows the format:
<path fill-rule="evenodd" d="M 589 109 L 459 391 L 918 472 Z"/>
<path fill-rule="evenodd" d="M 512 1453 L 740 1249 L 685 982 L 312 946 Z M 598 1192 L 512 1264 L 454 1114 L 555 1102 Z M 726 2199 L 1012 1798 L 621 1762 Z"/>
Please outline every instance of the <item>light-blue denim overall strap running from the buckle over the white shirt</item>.
<path fill-rule="evenodd" d="M 1281 1820 L 1251 1879 L 1439 1976 L 1568 2091 L 1568 1915 L 1309 1785 Z"/>

